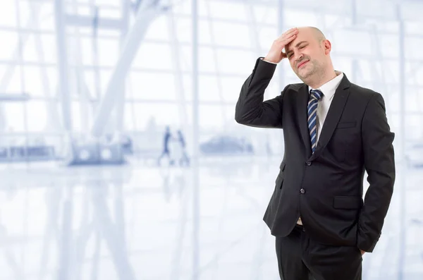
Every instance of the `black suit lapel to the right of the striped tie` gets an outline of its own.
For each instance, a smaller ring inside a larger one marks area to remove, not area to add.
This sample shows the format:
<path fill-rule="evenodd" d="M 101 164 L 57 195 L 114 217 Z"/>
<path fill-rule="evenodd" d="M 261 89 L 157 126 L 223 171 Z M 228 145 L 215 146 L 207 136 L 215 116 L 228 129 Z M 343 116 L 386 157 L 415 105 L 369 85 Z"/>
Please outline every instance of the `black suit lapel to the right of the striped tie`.
<path fill-rule="evenodd" d="M 338 121 L 341 118 L 345 103 L 347 102 L 348 95 L 350 94 L 350 91 L 348 90 L 349 88 L 350 81 L 344 74 L 341 83 L 335 91 L 335 95 L 333 95 L 331 106 L 329 106 L 328 114 L 326 115 L 323 128 L 321 129 L 321 135 L 317 142 L 316 150 L 314 151 L 314 154 L 312 154 L 312 156 L 309 158 L 309 160 L 313 160 L 319 157 L 320 153 L 322 152 L 322 150 L 324 150 L 329 140 L 331 140 L 333 131 L 335 130 L 336 125 L 338 124 Z"/>

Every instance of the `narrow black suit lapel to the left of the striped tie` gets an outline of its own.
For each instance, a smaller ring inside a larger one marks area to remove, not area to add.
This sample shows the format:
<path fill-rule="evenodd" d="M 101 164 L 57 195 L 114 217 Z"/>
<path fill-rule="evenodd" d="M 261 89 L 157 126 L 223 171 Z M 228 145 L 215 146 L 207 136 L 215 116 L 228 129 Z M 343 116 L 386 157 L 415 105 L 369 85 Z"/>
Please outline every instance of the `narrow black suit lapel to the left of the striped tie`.
<path fill-rule="evenodd" d="M 302 141 L 305 144 L 306 158 L 308 159 L 312 155 L 312 144 L 310 143 L 310 135 L 307 126 L 307 103 L 309 100 L 308 86 L 302 85 L 298 90 L 297 95 L 297 118 L 298 126 L 300 127 L 300 133 Z"/>

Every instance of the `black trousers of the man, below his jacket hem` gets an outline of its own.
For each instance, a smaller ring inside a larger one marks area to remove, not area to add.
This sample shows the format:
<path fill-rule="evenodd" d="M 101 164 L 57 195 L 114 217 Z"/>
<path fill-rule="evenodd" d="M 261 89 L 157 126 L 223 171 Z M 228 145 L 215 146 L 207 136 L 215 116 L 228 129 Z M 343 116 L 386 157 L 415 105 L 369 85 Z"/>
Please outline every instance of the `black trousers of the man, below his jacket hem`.
<path fill-rule="evenodd" d="M 282 280 L 362 280 L 359 248 L 317 243 L 300 225 L 276 236 L 276 256 Z"/>

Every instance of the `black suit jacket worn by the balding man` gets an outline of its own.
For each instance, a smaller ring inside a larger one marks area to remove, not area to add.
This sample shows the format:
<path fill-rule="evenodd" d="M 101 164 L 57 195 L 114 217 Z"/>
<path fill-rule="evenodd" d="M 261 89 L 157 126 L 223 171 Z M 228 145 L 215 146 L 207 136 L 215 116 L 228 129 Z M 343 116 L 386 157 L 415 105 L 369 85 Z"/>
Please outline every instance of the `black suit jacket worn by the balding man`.
<path fill-rule="evenodd" d="M 344 74 L 312 154 L 308 86 L 287 85 L 281 95 L 263 102 L 275 69 L 275 64 L 257 59 L 235 108 L 238 123 L 283 128 L 285 153 L 264 221 L 274 236 L 287 236 L 301 215 L 317 242 L 372 252 L 395 180 L 394 133 L 383 97 L 350 83 Z M 364 170 L 369 188 L 363 202 Z"/>

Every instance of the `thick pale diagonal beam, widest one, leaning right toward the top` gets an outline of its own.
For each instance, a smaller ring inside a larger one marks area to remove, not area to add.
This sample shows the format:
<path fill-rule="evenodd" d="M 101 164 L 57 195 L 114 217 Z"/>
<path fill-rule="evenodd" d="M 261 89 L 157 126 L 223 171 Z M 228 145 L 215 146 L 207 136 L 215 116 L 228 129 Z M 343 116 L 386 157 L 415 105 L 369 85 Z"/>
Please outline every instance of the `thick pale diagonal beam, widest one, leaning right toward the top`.
<path fill-rule="evenodd" d="M 116 63 L 109 84 L 106 87 L 106 92 L 102 102 L 99 104 L 97 115 L 94 118 L 94 124 L 92 126 L 92 135 L 99 137 L 102 135 L 104 127 L 109 120 L 110 112 L 116 105 L 116 99 L 123 98 L 121 85 L 125 79 L 130 65 L 137 54 L 138 47 L 142 42 L 142 39 L 147 33 L 147 28 L 152 20 L 159 14 L 157 6 L 150 6 L 150 8 L 142 8 L 142 5 L 137 11 L 135 16 L 135 23 L 128 32 L 128 36 L 123 44 L 121 56 Z"/>

